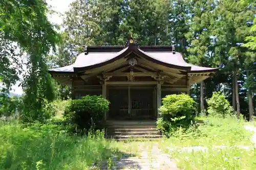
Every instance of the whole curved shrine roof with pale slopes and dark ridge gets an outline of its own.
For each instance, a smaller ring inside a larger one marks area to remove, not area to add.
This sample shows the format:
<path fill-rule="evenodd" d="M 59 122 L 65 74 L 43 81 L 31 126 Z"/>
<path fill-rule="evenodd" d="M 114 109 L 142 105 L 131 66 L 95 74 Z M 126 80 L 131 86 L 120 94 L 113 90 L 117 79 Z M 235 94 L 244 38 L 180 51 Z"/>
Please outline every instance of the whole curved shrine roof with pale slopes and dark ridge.
<path fill-rule="evenodd" d="M 101 67 L 134 53 L 150 62 L 177 68 L 187 72 L 215 72 L 218 68 L 201 67 L 187 63 L 181 53 L 174 51 L 172 45 L 143 45 L 129 43 L 126 46 L 87 46 L 85 52 L 80 53 L 74 64 L 53 68 L 49 72 L 79 72 Z"/>

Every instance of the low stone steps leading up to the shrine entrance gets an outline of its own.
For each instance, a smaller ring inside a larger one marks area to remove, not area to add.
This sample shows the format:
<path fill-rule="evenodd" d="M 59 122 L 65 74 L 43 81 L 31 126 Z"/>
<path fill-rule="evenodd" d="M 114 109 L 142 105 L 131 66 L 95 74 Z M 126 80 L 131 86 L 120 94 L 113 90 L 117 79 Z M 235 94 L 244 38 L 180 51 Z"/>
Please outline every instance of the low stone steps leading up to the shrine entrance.
<path fill-rule="evenodd" d="M 162 136 L 156 128 L 156 121 L 117 121 L 108 120 L 106 138 L 117 140 L 153 140 Z"/>

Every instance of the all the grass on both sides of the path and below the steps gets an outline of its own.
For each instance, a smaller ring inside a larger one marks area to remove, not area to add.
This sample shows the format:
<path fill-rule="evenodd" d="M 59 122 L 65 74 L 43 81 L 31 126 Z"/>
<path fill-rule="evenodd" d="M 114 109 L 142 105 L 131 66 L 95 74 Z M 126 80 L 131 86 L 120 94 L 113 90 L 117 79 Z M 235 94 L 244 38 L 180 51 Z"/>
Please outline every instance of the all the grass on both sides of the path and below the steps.
<path fill-rule="evenodd" d="M 106 140 L 102 132 L 86 137 L 68 135 L 61 126 L 27 127 L 18 122 L 0 122 L 0 169 L 89 169 L 102 160 L 114 166 L 113 158 L 143 156 L 158 145 L 176 160 L 180 169 L 255 169 L 256 151 L 244 129 L 245 121 L 232 117 L 199 117 L 197 125 L 179 129 L 173 137 L 157 141 Z M 225 145 L 225 148 L 214 146 Z M 240 145 L 250 148 L 243 149 Z M 183 147 L 207 147 L 207 152 L 187 152 Z M 173 149 L 173 150 L 170 150 Z M 152 162 L 153 163 L 153 162 Z M 97 165 L 96 165 L 97 166 Z M 95 168 L 97 169 L 97 167 Z"/>

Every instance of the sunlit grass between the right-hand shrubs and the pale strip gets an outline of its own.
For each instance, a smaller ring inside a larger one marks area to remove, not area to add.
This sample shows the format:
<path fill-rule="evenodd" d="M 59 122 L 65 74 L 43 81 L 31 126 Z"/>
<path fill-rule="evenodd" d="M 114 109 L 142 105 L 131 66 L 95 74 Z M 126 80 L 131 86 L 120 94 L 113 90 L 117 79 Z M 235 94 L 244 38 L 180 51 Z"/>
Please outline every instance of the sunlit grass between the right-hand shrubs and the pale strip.
<path fill-rule="evenodd" d="M 198 117 L 189 129 L 180 128 L 163 145 L 175 147 L 208 145 L 251 145 L 252 132 L 244 129 L 245 120 L 235 117 Z"/>

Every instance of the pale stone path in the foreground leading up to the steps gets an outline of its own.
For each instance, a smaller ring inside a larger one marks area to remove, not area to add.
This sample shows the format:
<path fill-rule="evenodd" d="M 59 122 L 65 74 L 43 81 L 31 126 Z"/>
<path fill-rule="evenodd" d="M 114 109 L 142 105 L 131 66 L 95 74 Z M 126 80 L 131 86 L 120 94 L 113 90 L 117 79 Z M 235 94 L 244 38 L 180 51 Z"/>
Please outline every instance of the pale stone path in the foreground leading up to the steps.
<path fill-rule="evenodd" d="M 178 170 L 174 161 L 159 149 L 157 142 L 153 145 L 144 143 L 139 153 L 140 155 L 135 157 L 123 156 L 121 159 L 112 159 L 110 169 Z M 99 169 L 108 169 L 106 162 L 101 164 Z"/>

